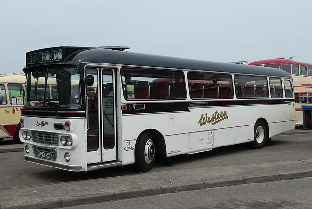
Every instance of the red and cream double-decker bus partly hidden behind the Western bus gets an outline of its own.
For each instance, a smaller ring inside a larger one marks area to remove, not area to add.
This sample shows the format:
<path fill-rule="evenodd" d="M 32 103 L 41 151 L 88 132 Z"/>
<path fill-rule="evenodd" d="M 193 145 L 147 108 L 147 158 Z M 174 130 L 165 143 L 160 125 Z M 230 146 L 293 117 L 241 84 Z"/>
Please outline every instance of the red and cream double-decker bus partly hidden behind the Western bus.
<path fill-rule="evenodd" d="M 296 125 L 302 125 L 301 106 L 312 105 L 312 64 L 277 58 L 254 61 L 249 63 L 249 65 L 282 69 L 292 76 L 296 102 Z"/>

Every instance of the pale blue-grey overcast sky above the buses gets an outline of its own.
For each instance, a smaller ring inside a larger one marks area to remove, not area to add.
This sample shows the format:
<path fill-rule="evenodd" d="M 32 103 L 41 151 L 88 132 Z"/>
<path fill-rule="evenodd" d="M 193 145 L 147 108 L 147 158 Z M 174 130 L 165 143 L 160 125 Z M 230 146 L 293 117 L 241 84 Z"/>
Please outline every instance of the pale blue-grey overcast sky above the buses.
<path fill-rule="evenodd" d="M 129 46 L 132 52 L 218 62 L 312 63 L 312 0 L 1 0 L 0 73 L 26 52 Z"/>

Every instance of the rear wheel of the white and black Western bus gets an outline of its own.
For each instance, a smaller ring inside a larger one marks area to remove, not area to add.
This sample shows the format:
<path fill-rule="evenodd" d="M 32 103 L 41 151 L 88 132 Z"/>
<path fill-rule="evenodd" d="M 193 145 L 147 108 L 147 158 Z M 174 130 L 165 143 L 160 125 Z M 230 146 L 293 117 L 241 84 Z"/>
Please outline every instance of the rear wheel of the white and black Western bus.
<path fill-rule="evenodd" d="M 268 139 L 267 126 L 263 121 L 257 121 L 254 125 L 254 141 L 252 147 L 254 149 L 261 149 Z"/>

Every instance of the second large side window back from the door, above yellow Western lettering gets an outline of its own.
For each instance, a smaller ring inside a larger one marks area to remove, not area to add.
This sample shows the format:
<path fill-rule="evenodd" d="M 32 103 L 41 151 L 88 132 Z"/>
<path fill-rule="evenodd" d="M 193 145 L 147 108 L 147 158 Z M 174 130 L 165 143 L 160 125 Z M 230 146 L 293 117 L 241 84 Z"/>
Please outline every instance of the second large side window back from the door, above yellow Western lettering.
<path fill-rule="evenodd" d="M 233 98 L 232 76 L 229 74 L 188 72 L 192 99 Z"/>

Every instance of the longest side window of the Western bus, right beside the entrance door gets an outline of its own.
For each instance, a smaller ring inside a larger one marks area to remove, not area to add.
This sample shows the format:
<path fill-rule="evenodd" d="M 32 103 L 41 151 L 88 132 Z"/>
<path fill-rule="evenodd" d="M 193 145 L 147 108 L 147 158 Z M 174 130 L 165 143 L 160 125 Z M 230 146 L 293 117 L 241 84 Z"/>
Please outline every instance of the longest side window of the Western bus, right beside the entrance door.
<path fill-rule="evenodd" d="M 128 100 L 186 98 L 182 71 L 123 68 L 121 78 Z"/>

